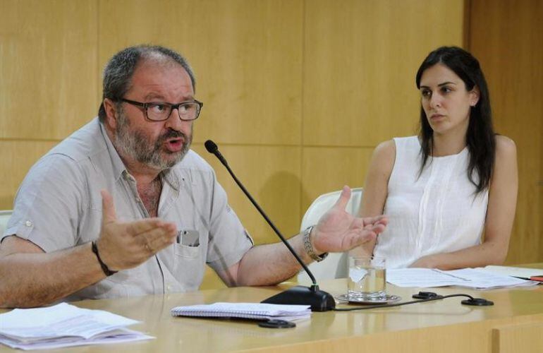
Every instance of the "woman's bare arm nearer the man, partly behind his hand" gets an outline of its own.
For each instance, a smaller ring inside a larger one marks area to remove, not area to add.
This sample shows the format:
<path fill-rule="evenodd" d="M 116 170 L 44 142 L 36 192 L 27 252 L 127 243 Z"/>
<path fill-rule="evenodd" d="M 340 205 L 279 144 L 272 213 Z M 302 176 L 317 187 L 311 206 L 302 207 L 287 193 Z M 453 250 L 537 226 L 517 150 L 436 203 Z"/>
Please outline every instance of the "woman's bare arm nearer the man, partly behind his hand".
<path fill-rule="evenodd" d="M 383 213 L 394 160 L 396 160 L 396 144 L 393 140 L 377 145 L 367 171 L 364 193 L 360 203 L 360 217 L 373 217 Z M 371 255 L 374 247 L 375 240 L 368 241 L 353 251 Z"/>

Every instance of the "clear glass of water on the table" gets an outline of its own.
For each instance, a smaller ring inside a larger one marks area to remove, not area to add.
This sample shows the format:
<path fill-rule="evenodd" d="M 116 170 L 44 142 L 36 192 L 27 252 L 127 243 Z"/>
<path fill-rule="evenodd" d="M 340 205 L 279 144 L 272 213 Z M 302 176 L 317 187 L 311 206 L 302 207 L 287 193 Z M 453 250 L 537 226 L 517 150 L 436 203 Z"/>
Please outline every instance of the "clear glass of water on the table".
<path fill-rule="evenodd" d="M 386 267 L 378 256 L 349 256 L 349 299 L 376 300 L 386 297 Z"/>

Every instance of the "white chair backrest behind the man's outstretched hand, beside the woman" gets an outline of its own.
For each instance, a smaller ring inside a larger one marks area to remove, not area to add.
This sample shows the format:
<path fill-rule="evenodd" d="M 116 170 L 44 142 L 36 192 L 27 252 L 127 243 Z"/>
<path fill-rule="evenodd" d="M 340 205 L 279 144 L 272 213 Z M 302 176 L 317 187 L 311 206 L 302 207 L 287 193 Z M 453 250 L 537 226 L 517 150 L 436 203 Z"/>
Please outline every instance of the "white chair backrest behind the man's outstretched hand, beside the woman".
<path fill-rule="evenodd" d="M 346 210 L 351 215 L 357 215 L 360 209 L 360 201 L 362 201 L 362 188 L 351 189 L 350 200 L 347 203 Z M 305 211 L 302 218 L 300 231 L 306 229 L 310 225 L 317 224 L 318 220 L 324 213 L 327 212 L 338 201 L 340 191 L 324 193 L 319 196 Z M 311 263 L 309 269 L 317 280 L 331 280 L 334 278 L 347 277 L 347 253 L 330 253 L 326 259 L 319 263 Z M 302 270 L 298 273 L 298 281 L 307 282 L 310 280 L 307 273 Z"/>

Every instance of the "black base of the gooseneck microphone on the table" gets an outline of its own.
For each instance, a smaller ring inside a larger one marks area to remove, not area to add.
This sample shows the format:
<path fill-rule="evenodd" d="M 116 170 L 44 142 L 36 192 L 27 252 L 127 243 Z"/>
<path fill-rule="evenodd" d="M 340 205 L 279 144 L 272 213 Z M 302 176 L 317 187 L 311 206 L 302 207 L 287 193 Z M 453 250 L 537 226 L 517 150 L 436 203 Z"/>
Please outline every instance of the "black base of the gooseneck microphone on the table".
<path fill-rule="evenodd" d="M 329 293 L 312 287 L 295 286 L 273 297 L 264 299 L 266 304 L 310 305 L 311 311 L 329 311 L 336 308 L 336 301 Z"/>

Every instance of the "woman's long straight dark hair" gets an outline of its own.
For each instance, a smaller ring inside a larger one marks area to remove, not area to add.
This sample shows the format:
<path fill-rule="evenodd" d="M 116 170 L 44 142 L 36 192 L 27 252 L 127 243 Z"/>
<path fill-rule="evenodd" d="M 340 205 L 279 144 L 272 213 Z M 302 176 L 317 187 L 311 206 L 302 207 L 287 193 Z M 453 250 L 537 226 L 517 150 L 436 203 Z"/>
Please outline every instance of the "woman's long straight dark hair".
<path fill-rule="evenodd" d="M 458 47 L 440 47 L 426 57 L 417 71 L 417 88 L 420 89 L 420 78 L 427 68 L 442 64 L 456 73 L 465 84 L 465 89 L 479 88 L 480 96 L 475 107 L 471 107 L 466 143 L 470 152 L 468 179 L 477 187 L 477 193 L 487 189 L 494 169 L 496 156 L 496 136 L 492 127 L 492 112 L 487 80 L 484 79 L 479 61 L 472 54 Z M 428 123 L 425 110 L 420 108 L 420 144 L 422 146 L 422 165 L 425 167 L 428 156 L 434 147 L 434 131 Z M 478 178 L 475 178 L 475 175 Z"/>

